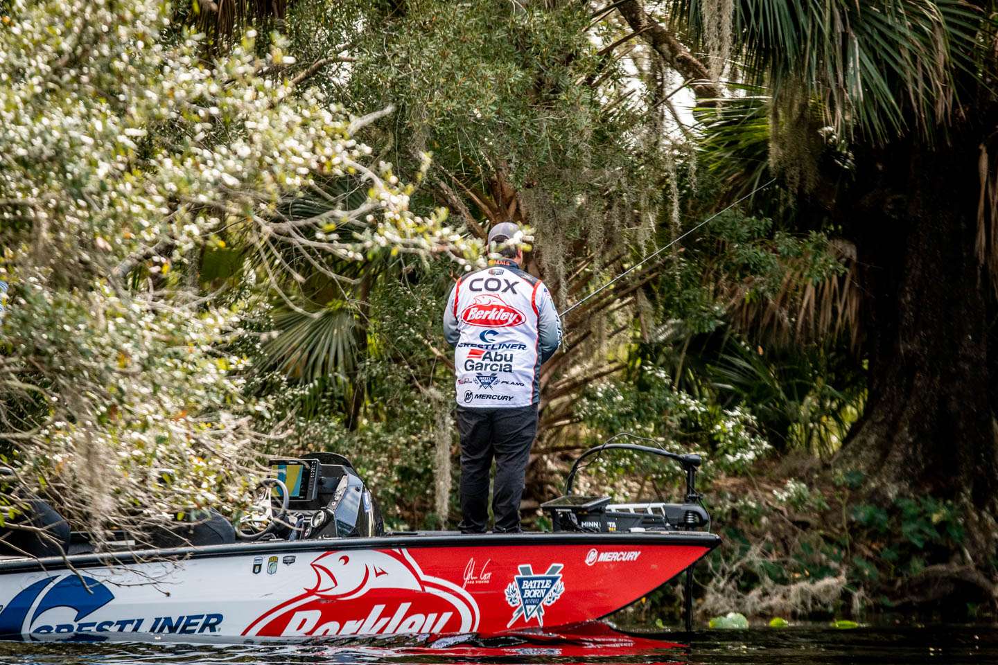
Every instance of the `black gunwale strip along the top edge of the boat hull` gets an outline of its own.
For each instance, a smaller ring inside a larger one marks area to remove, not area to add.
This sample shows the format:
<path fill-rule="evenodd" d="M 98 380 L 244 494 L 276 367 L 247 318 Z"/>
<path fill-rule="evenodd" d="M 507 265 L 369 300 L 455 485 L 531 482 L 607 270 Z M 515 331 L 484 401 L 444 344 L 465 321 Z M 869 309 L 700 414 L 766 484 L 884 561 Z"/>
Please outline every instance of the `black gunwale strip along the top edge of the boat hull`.
<path fill-rule="evenodd" d="M 122 552 L 100 552 L 49 556 L 45 558 L 0 559 L 0 575 L 15 572 L 35 572 L 54 569 L 82 569 L 139 565 L 144 563 L 177 562 L 199 558 L 219 558 L 231 555 L 265 554 L 274 551 L 293 553 L 330 549 L 393 549 L 396 547 L 471 547 L 524 546 L 563 544 L 655 544 L 694 545 L 707 547 L 697 560 L 721 544 L 721 536 L 709 531 L 642 531 L 621 533 L 521 532 L 470 534 L 459 531 L 409 531 L 369 537 L 321 538 L 316 540 L 265 540 L 235 542 L 220 545 L 140 549 Z"/>

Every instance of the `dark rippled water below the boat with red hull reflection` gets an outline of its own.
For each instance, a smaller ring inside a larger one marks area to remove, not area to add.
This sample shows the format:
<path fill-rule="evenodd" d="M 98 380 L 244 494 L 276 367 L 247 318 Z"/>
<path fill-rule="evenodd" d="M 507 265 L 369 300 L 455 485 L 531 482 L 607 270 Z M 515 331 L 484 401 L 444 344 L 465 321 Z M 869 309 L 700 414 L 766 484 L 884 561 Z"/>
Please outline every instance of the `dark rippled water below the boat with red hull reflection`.
<path fill-rule="evenodd" d="M 705 631 L 684 644 L 679 635 L 630 641 L 558 638 L 444 641 L 432 644 L 182 644 L 168 642 L 19 643 L 0 642 L 0 665 L 171 665 L 320 663 L 704 663 L 823 665 L 825 663 L 996 663 L 998 628 L 825 628 Z"/>

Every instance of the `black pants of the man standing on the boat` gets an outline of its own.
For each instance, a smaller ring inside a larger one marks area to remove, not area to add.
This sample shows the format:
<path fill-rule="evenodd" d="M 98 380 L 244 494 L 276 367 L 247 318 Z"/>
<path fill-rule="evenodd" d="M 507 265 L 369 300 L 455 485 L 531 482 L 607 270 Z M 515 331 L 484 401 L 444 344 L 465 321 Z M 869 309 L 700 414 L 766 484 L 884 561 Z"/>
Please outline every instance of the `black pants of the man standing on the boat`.
<path fill-rule="evenodd" d="M 520 530 L 520 498 L 537 434 L 537 405 L 512 409 L 457 408 L 461 436 L 461 523 L 465 533 L 488 525 L 489 470 L 496 461 L 492 512 L 496 531 Z"/>

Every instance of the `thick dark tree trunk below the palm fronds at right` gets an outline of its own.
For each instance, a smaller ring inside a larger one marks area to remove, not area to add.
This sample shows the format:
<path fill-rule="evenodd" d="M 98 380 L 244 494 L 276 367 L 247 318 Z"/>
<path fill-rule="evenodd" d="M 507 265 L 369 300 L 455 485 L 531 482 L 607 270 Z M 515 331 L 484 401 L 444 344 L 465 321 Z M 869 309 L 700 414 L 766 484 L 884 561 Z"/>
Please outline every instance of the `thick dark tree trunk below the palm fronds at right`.
<path fill-rule="evenodd" d="M 975 249 L 978 144 L 950 140 L 857 155 L 863 191 L 847 221 L 868 302 L 869 398 L 838 462 L 865 470 L 871 489 L 992 510 L 994 294 Z"/>

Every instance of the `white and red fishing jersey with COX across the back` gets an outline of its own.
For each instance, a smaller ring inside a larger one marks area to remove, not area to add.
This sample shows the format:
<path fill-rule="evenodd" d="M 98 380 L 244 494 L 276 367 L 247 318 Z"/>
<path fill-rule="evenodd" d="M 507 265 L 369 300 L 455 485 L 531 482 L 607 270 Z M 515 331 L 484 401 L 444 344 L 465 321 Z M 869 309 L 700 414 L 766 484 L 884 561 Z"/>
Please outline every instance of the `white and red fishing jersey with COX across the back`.
<path fill-rule="evenodd" d="M 514 261 L 457 280 L 443 314 L 454 347 L 457 404 L 527 407 L 540 401 L 541 364 L 561 344 L 561 321 L 544 283 Z"/>

